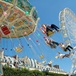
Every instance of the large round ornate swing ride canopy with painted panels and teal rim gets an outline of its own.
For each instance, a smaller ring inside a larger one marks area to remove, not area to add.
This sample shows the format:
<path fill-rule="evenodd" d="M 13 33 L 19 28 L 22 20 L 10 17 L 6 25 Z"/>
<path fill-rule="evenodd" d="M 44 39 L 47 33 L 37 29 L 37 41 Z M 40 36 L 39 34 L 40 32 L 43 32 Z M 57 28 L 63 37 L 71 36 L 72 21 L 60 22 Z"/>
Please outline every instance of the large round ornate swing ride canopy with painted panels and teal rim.
<path fill-rule="evenodd" d="M 38 20 L 37 11 L 28 0 L 0 0 L 0 33 L 2 37 L 27 36 L 34 32 Z"/>

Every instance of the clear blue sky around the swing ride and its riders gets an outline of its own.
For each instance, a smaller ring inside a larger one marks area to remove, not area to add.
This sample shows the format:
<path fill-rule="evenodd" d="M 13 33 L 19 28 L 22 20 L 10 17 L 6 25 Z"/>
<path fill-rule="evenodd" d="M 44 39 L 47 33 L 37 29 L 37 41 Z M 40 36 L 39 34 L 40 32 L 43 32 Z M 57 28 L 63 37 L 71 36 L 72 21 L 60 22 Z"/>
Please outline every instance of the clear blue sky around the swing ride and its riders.
<path fill-rule="evenodd" d="M 38 11 L 38 16 L 40 17 L 40 20 L 37 25 L 36 32 L 31 34 L 28 37 L 23 37 L 19 41 L 19 39 L 13 39 L 13 42 L 16 42 L 15 45 L 19 44 L 19 42 L 24 46 L 23 52 L 17 53 L 14 50 L 10 51 L 10 49 L 5 50 L 5 55 L 17 55 L 19 57 L 28 56 L 33 59 L 37 59 L 38 61 L 46 60 L 47 63 L 52 60 L 53 65 L 57 64 L 62 68 L 63 70 L 69 72 L 71 69 L 71 60 L 69 58 L 64 59 L 55 59 L 55 55 L 57 55 L 57 52 L 65 53 L 60 47 L 57 47 L 56 49 L 51 49 L 49 46 L 47 46 L 44 42 L 44 35 L 39 30 L 39 27 L 41 24 L 56 24 L 59 26 L 59 12 L 68 7 L 73 12 L 76 12 L 75 6 L 76 1 L 75 0 L 29 0 L 29 2 L 36 7 L 36 10 Z M 40 34 L 40 36 L 38 36 Z M 31 40 L 27 40 L 28 38 L 31 38 Z M 63 42 L 62 34 L 61 33 L 55 33 L 52 36 L 53 40 L 57 42 Z M 36 42 L 38 40 L 38 42 Z M 4 44 L 5 43 L 5 44 Z M 8 43 L 8 44 L 7 44 Z M 29 48 L 27 45 L 29 43 L 32 45 L 32 48 Z M 40 45 L 39 45 L 40 44 Z M 6 48 L 11 48 L 13 45 L 10 43 L 10 40 L 4 39 L 2 41 L 2 47 L 5 46 Z M 67 52 L 68 53 L 68 52 Z M 39 56 L 43 54 L 44 59 L 39 59 Z"/>

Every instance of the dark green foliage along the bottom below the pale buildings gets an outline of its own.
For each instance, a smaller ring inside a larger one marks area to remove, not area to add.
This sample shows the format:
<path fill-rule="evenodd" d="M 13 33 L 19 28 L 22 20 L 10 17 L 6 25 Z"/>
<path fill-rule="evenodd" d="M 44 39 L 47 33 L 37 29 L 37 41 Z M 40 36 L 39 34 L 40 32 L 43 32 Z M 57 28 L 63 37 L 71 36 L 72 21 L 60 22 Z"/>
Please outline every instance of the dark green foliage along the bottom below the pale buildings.
<path fill-rule="evenodd" d="M 63 74 L 56 74 L 50 72 L 40 72 L 38 70 L 29 71 L 27 69 L 13 69 L 3 67 L 3 76 L 68 76 Z"/>

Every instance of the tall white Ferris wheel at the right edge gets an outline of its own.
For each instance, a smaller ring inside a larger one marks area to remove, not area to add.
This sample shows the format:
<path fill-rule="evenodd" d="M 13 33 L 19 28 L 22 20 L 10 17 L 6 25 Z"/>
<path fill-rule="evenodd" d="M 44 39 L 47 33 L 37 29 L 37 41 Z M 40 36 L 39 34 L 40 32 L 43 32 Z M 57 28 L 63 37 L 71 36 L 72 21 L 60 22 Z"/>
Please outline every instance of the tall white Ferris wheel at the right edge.
<path fill-rule="evenodd" d="M 65 44 L 71 44 L 73 47 L 76 46 L 76 15 L 69 9 L 63 9 L 59 14 L 61 32 L 63 34 L 63 39 Z M 74 69 L 76 69 L 76 48 L 74 48 L 74 55 L 71 56 L 72 67 L 69 76 L 76 74 Z"/>

